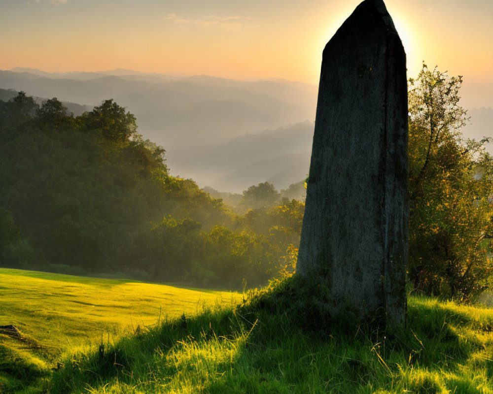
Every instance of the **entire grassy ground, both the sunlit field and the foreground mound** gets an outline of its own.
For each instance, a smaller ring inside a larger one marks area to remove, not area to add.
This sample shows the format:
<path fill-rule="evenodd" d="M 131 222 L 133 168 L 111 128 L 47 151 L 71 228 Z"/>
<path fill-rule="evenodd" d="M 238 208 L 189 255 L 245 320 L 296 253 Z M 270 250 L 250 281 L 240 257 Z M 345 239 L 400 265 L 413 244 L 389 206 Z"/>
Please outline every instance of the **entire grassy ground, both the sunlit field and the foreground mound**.
<path fill-rule="evenodd" d="M 7 315 L 15 316 L 29 338 L 46 338 L 30 342 L 43 347 L 23 350 L 2 334 L 2 351 L 11 357 L 2 363 L 5 393 L 78 394 L 88 388 L 122 394 L 493 391 L 493 312 L 480 306 L 411 296 L 407 327 L 378 331 L 371 324 L 328 321 L 313 289 L 299 290 L 303 284 L 292 279 L 249 293 L 244 301 L 222 294 L 225 307 L 201 311 L 199 297 L 210 305 L 217 293 L 15 270 L 0 275 L 11 283 L 1 299 L 7 300 Z M 13 293 L 28 301 L 21 306 Z M 122 296 L 128 308 L 118 307 Z M 50 302 L 38 304 L 43 297 Z M 235 300 L 239 307 L 231 306 Z M 174 311 L 170 320 L 161 317 L 162 323 L 155 324 L 158 304 L 162 317 L 170 307 Z M 39 313 L 33 315 L 31 308 Z M 182 311 L 185 320 L 177 318 Z M 59 325 L 64 315 L 71 318 Z M 112 319 L 117 323 L 109 323 Z M 140 321 L 151 326 L 137 328 Z M 108 335 L 129 322 L 133 328 L 125 335 Z M 98 346 L 82 346 L 84 338 Z M 49 352 L 50 346 L 56 351 Z"/>

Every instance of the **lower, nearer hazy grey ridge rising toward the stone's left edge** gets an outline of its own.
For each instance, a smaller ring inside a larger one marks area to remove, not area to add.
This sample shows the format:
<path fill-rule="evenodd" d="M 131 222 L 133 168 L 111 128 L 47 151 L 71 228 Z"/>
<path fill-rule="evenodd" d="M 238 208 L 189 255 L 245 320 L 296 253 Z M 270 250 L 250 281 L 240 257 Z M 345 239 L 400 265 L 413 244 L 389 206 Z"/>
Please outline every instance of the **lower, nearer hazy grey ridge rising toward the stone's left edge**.
<path fill-rule="evenodd" d="M 265 181 L 281 190 L 306 178 L 313 131 L 314 122 L 306 121 L 245 134 L 204 148 L 193 158 L 179 158 L 176 163 L 194 179 L 211 179 L 208 184 L 217 190 L 240 193 Z"/>

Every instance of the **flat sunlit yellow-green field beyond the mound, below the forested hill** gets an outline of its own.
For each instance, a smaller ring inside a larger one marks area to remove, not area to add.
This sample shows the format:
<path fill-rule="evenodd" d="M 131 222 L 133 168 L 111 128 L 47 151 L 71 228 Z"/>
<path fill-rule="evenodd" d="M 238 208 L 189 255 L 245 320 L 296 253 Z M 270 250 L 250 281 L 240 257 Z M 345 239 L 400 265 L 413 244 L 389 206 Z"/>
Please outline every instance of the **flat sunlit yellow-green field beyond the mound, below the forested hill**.
<path fill-rule="evenodd" d="M 158 323 L 232 305 L 237 293 L 0 268 L 0 393 L 42 380 L 65 354 Z"/>

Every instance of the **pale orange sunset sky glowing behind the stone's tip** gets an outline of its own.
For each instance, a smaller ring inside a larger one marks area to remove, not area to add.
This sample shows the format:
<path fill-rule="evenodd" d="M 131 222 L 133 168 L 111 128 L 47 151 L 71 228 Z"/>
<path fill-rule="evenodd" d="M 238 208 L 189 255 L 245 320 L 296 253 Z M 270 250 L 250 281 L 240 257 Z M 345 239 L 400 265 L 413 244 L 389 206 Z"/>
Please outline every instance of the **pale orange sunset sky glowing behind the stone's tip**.
<path fill-rule="evenodd" d="M 0 69 L 144 72 L 318 83 L 359 0 L 0 0 Z M 408 58 L 493 82 L 492 0 L 386 0 Z"/>

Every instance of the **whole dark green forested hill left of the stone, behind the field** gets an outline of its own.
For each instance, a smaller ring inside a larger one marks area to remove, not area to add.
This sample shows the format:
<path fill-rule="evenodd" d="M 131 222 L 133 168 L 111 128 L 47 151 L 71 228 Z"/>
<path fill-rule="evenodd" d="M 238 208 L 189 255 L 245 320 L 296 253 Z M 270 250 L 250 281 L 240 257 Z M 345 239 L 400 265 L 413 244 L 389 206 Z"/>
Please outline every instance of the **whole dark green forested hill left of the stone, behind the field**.
<path fill-rule="evenodd" d="M 74 117 L 57 99 L 0 101 L 0 265 L 241 287 L 297 243 L 303 204 L 238 216 L 170 176 L 113 100 Z"/>

